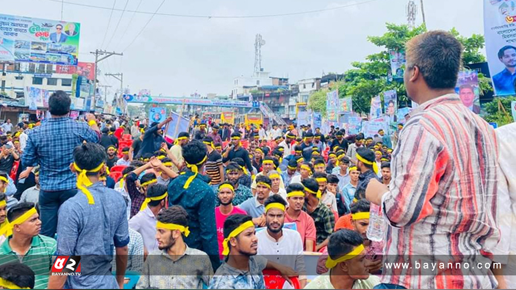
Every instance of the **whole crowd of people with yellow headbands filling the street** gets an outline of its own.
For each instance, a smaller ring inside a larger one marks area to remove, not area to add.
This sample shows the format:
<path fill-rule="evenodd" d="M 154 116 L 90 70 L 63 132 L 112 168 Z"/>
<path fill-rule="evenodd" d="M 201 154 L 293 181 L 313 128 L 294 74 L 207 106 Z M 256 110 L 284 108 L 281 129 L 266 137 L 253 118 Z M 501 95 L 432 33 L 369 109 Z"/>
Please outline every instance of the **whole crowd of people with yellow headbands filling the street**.
<path fill-rule="evenodd" d="M 268 275 L 313 289 L 511 286 L 496 268 L 386 266 L 494 263 L 513 248 L 500 211 L 514 162 L 498 142 L 516 128 L 498 141 L 462 105 L 461 52 L 442 31 L 408 42 L 405 85 L 420 106 L 393 135 L 190 116 L 170 140 L 171 118 L 75 121 L 70 97 L 53 93 L 51 118 L 2 125 L 0 288 L 123 288 L 128 273 L 136 288 L 260 289 Z M 383 237 L 370 239 L 378 218 Z M 56 255 L 80 256 L 80 276 L 49 275 Z"/>

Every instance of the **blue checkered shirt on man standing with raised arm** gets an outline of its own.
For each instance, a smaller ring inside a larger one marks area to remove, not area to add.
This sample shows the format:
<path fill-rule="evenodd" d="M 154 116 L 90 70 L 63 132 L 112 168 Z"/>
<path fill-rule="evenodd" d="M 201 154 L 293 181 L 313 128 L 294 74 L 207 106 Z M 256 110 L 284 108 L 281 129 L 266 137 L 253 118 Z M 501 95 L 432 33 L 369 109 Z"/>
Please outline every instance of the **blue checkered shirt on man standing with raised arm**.
<path fill-rule="evenodd" d="M 22 165 L 40 165 L 40 187 L 45 191 L 75 188 L 76 176 L 70 170 L 73 149 L 83 141 L 100 141 L 100 133 L 92 130 L 87 123 L 68 117 L 47 119 L 27 135 Z"/>

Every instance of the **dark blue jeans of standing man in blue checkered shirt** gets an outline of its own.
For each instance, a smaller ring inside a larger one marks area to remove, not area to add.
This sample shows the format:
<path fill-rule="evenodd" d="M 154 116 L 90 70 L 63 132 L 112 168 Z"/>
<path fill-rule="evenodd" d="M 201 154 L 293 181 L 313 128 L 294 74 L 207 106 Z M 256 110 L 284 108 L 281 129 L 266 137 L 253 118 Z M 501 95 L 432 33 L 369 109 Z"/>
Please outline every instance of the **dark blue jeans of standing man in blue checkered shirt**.
<path fill-rule="evenodd" d="M 39 219 L 41 234 L 54 238 L 57 231 L 57 212 L 59 206 L 77 194 L 77 189 L 59 191 L 39 191 Z"/>

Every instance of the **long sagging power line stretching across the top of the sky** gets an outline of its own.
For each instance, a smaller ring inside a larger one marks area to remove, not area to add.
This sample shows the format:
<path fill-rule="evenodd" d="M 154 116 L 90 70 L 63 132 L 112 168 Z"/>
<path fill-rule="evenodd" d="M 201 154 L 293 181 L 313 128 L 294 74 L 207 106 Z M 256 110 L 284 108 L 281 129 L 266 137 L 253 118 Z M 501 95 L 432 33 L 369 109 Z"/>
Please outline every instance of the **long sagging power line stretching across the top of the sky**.
<path fill-rule="evenodd" d="M 61 2 L 60 0 L 45 0 L 50 2 Z M 221 16 L 221 15 L 193 15 L 193 14 L 174 14 L 174 13 L 157 13 L 157 12 L 147 12 L 147 11 L 137 11 L 137 10 L 126 10 L 127 12 L 134 12 L 134 13 L 140 13 L 140 14 L 152 14 L 152 15 L 159 15 L 159 16 L 170 16 L 170 17 L 185 17 L 185 18 L 218 18 L 218 19 L 231 19 L 231 18 L 270 18 L 270 17 L 283 17 L 283 16 L 292 16 L 292 15 L 301 15 L 301 14 L 310 14 L 310 13 L 318 13 L 318 12 L 325 12 L 325 11 L 331 11 L 331 10 L 337 10 L 337 9 L 343 9 L 347 7 L 353 7 L 358 6 L 362 4 L 367 3 L 373 3 L 378 2 L 382 0 L 368 0 L 363 1 L 360 3 L 353 3 L 353 4 L 346 4 L 341 6 L 335 6 L 331 8 L 323 8 L 323 9 L 316 9 L 316 10 L 308 10 L 308 11 L 300 11 L 300 12 L 290 12 L 290 13 L 279 13 L 279 14 L 262 14 L 262 15 L 230 15 L 230 16 Z M 111 10 L 109 7 L 104 6 L 96 6 L 96 5 L 88 5 L 88 4 L 80 4 L 80 3 L 74 3 L 74 2 L 68 2 L 64 1 L 66 4 L 70 5 L 76 5 L 76 6 L 83 6 L 83 7 L 89 7 L 89 8 L 96 8 L 96 9 L 104 9 L 104 10 Z M 115 11 L 122 11 L 122 9 L 113 9 Z"/>

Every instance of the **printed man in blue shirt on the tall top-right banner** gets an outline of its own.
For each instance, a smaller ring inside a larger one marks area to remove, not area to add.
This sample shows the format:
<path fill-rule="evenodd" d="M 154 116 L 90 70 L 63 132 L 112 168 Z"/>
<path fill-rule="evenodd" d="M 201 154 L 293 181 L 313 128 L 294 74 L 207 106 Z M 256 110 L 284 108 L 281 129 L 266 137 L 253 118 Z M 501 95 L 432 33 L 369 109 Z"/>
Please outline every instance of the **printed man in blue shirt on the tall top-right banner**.
<path fill-rule="evenodd" d="M 493 75 L 496 95 L 514 94 L 514 76 L 516 75 L 516 47 L 506 45 L 498 51 L 498 59 L 505 69 Z"/>

